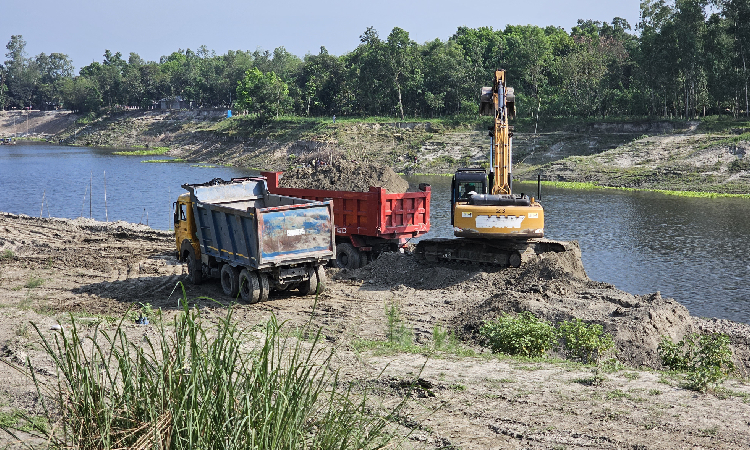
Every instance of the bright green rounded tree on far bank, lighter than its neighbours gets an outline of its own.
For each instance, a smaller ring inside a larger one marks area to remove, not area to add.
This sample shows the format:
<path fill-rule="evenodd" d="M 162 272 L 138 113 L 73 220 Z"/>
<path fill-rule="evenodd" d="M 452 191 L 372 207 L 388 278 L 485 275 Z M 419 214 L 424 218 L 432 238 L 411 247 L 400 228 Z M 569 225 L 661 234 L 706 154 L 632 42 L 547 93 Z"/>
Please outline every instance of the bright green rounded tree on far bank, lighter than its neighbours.
<path fill-rule="evenodd" d="M 273 72 L 248 70 L 237 85 L 237 107 L 257 114 L 261 122 L 279 116 L 289 105 L 289 87 Z"/>

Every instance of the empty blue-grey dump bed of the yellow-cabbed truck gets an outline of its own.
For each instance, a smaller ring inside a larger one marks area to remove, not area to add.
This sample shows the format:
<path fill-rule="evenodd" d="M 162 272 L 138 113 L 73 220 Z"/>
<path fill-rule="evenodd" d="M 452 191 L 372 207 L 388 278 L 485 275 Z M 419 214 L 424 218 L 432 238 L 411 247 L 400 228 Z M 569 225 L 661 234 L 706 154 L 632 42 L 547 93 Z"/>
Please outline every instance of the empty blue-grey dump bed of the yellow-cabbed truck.
<path fill-rule="evenodd" d="M 185 184 L 201 252 L 254 269 L 334 255 L 333 206 L 267 192 L 263 178 Z"/>

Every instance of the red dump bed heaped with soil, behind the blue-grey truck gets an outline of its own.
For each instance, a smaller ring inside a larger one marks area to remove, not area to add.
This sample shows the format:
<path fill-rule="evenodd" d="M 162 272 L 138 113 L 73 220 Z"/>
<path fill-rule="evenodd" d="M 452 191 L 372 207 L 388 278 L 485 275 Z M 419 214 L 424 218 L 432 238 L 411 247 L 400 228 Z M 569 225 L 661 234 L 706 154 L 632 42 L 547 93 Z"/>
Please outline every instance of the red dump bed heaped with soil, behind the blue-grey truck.
<path fill-rule="evenodd" d="M 430 231 L 430 186 L 419 192 L 388 194 L 379 187 L 369 192 L 280 188 L 283 172 L 261 172 L 272 194 L 321 201 L 333 199 L 333 222 L 337 236 L 376 237 L 405 242 Z"/>

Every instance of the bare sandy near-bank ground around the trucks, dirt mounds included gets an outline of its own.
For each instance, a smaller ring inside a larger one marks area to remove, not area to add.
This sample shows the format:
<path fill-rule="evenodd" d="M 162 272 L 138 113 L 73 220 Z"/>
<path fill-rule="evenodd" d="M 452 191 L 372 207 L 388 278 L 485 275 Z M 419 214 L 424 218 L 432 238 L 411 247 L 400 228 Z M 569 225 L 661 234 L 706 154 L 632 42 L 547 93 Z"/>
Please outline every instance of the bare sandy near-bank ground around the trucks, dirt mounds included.
<path fill-rule="evenodd" d="M 269 301 L 237 305 L 243 327 L 272 314 L 286 327 L 308 321 L 335 348 L 342 380 L 389 404 L 403 385 L 420 378 L 423 394 L 407 403 L 398 424 L 405 448 L 747 448 L 750 442 L 750 326 L 699 319 L 658 293 L 634 296 L 591 281 L 571 244 L 563 253 L 526 255 L 518 269 L 418 264 L 409 254 L 384 254 L 356 271 L 328 270 L 316 300 L 272 293 Z M 0 214 L 0 413 L 39 413 L 28 357 L 51 382 L 55 368 L 41 351 L 58 322 L 75 317 L 83 333 L 112 330 L 125 317 L 128 334 L 154 336 L 136 325 L 142 304 L 178 314 L 182 287 L 208 321 L 226 313 L 230 298 L 216 281 L 185 282 L 172 234 L 142 225 L 91 220 L 37 219 Z M 210 300 L 214 299 L 214 300 Z M 362 342 L 386 340 L 386 307 L 397 304 L 413 330 L 413 351 L 383 350 Z M 622 363 L 597 369 L 555 358 L 496 356 L 477 343 L 483 320 L 501 312 L 532 311 L 551 321 L 578 317 L 599 323 L 616 342 Z M 465 350 L 433 351 L 436 326 L 453 330 Z M 686 390 L 660 368 L 662 335 L 722 331 L 732 339 L 739 371 L 709 393 Z M 466 349 L 473 350 L 468 354 Z M 607 369 L 606 367 L 609 367 Z M 11 443 L 4 436 L 3 443 Z M 32 444 L 42 444 L 31 441 Z"/>

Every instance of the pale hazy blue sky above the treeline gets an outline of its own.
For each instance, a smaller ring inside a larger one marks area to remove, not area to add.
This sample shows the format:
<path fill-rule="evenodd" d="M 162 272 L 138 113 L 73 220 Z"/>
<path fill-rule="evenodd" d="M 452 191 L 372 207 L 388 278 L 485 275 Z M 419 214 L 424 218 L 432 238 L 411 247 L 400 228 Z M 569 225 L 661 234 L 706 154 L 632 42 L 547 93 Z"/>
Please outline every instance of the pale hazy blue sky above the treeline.
<path fill-rule="evenodd" d="M 393 27 L 424 43 L 448 39 L 459 26 L 554 25 L 578 19 L 626 19 L 635 27 L 640 0 L 0 0 L 0 41 L 20 34 L 29 56 L 65 53 L 76 69 L 101 61 L 105 49 L 158 61 L 178 49 L 227 50 L 284 46 L 303 57 L 321 46 L 341 55 L 373 26 Z M 3 57 L 0 60 L 4 61 Z"/>

